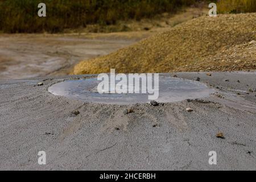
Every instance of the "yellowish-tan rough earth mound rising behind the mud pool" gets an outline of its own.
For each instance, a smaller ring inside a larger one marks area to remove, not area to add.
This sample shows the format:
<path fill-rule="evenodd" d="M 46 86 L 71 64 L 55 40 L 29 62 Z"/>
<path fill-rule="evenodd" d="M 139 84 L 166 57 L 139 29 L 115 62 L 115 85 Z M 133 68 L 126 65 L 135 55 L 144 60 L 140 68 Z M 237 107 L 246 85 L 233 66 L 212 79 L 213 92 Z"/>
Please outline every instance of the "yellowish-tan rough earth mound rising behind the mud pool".
<path fill-rule="evenodd" d="M 256 13 L 202 16 L 110 55 L 81 61 L 74 73 L 255 69 L 253 40 Z"/>

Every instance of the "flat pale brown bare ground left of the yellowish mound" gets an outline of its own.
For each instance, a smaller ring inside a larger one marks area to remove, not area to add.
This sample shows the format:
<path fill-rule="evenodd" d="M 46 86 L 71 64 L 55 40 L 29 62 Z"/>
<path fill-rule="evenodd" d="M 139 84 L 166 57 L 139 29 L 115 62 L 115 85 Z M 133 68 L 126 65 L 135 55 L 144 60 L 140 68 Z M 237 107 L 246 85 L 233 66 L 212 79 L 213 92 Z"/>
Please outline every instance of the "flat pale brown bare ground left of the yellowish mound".
<path fill-rule="evenodd" d="M 80 60 L 106 55 L 140 39 L 108 36 L 0 35 L 0 80 L 67 75 Z"/>

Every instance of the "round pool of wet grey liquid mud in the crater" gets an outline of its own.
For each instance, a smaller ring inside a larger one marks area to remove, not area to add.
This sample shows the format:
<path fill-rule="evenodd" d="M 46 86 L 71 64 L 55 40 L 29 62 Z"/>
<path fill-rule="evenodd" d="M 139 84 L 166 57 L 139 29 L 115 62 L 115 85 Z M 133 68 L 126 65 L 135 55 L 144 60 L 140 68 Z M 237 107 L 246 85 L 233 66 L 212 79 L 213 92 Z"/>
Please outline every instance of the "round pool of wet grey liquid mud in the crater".
<path fill-rule="evenodd" d="M 154 80 L 154 79 L 153 79 Z M 80 80 L 67 80 L 59 82 L 49 87 L 48 91 L 56 96 L 64 96 L 71 99 L 94 102 L 100 104 L 137 104 L 148 103 L 148 96 L 156 94 L 147 93 L 103 93 L 97 92 L 97 86 L 101 81 L 97 78 L 84 78 Z M 115 81 L 117 84 L 117 81 Z M 129 84 L 127 84 L 129 88 Z M 152 86 L 154 90 L 154 84 Z M 113 90 L 110 88 L 109 90 Z M 159 97 L 155 99 L 158 102 L 177 102 L 186 99 L 195 99 L 209 97 L 213 93 L 205 84 L 199 81 L 191 81 L 183 78 L 174 78 L 171 76 L 159 76 Z M 151 92 L 152 93 L 152 92 Z"/>

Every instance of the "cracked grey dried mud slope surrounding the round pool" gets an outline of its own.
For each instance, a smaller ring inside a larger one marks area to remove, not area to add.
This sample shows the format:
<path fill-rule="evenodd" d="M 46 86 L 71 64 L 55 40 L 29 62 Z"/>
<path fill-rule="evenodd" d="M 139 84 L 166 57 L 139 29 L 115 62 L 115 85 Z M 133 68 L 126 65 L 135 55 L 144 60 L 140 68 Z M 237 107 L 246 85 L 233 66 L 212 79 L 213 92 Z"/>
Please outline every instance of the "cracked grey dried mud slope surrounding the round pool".
<path fill-rule="evenodd" d="M 256 73 L 176 75 L 215 92 L 159 106 L 107 105 L 48 92 L 84 76 L 0 81 L 0 169 L 255 170 Z M 46 165 L 38 164 L 39 151 Z"/>

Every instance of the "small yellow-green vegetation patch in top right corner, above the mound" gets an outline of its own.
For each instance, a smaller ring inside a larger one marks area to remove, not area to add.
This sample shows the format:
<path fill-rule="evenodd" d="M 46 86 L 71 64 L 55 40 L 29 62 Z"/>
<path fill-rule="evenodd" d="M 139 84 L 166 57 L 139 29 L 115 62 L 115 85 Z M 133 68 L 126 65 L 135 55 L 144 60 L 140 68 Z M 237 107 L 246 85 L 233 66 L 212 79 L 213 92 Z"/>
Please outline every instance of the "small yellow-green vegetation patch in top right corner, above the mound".
<path fill-rule="evenodd" d="M 218 2 L 219 13 L 252 13 L 256 12 L 255 0 L 221 0 Z"/>

